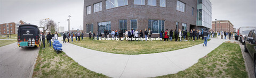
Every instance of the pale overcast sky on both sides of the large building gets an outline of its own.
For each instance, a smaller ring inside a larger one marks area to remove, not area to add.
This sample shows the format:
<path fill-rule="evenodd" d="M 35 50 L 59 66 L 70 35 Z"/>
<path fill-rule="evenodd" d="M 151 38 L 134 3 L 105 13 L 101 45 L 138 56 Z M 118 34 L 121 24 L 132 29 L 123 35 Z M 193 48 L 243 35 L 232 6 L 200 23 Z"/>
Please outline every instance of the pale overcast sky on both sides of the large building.
<path fill-rule="evenodd" d="M 166 0 L 167 1 L 167 0 Z M 229 20 L 235 28 L 256 25 L 256 0 L 210 0 L 212 21 Z M 84 0 L 0 0 L 0 23 L 19 22 L 40 25 L 39 20 L 50 18 L 67 30 L 83 27 Z"/>

